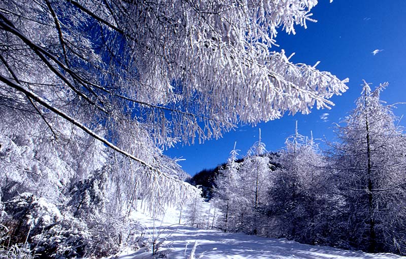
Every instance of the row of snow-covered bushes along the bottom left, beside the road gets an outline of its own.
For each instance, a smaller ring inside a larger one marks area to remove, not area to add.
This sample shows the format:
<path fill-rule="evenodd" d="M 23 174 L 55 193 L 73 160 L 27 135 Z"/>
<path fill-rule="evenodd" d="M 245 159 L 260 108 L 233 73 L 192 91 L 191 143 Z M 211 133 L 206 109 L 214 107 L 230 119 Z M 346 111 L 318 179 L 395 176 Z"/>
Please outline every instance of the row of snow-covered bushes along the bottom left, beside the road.
<path fill-rule="evenodd" d="M 120 245 L 138 248 L 137 225 L 113 216 L 75 217 L 44 198 L 23 193 L 4 203 L 1 245 L 4 251 L 25 248 L 33 258 L 102 257 Z M 141 245 L 142 246 L 142 245 Z"/>

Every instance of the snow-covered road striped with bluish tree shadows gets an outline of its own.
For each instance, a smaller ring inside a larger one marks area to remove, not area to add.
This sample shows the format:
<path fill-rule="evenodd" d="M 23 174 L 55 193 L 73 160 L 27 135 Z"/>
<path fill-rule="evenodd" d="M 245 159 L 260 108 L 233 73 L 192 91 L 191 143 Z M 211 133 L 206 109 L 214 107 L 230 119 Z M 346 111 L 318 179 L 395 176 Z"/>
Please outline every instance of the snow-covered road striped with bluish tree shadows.
<path fill-rule="evenodd" d="M 161 235 L 167 237 L 173 252 L 170 258 L 185 259 L 185 244 L 189 242 L 186 254 L 197 241 L 196 258 L 399 258 L 392 254 L 366 254 L 350 252 L 330 247 L 303 245 L 284 239 L 269 239 L 244 234 L 223 233 L 219 231 L 200 230 L 187 226 L 175 225 L 160 229 Z"/>

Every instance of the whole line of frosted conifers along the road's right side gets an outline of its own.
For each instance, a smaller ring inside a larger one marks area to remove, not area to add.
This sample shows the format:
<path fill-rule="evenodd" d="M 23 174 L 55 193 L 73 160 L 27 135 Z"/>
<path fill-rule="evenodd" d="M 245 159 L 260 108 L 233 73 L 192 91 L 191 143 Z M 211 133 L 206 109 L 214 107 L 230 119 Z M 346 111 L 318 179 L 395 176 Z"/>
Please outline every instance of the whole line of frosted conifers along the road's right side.
<path fill-rule="evenodd" d="M 380 100 L 385 86 L 364 84 L 325 150 L 296 127 L 278 153 L 267 153 L 260 140 L 243 158 L 234 147 L 226 164 L 192 178 L 212 187 L 204 194 L 220 211 L 217 228 L 404 254 L 406 136 L 393 106 Z"/>

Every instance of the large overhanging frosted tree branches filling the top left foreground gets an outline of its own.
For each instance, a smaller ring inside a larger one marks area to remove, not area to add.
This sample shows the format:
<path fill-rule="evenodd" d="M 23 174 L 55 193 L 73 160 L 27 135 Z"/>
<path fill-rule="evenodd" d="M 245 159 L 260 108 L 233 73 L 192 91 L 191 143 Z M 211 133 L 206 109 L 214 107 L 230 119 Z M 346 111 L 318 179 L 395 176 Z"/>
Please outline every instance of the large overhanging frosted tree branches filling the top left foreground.
<path fill-rule="evenodd" d="M 42 120 L 55 137 L 55 118 L 67 121 L 142 165 L 154 188 L 190 189 L 143 158 L 154 146 L 220 137 L 240 121 L 327 107 L 347 89 L 271 51 L 277 29 L 306 27 L 316 4 L 5 0 L 0 104 L 21 122 Z"/>

